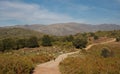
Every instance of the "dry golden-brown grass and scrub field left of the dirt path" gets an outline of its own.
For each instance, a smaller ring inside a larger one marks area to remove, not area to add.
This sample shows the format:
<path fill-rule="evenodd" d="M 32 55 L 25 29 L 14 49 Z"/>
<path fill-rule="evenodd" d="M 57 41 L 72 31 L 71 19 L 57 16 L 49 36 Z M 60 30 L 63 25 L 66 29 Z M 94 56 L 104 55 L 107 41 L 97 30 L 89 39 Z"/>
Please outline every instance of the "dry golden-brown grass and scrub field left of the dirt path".
<path fill-rule="evenodd" d="M 60 54 L 71 51 L 74 49 L 41 46 L 0 52 L 0 74 L 30 74 L 35 65 L 50 61 Z"/>

